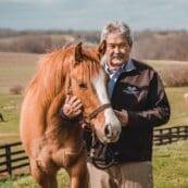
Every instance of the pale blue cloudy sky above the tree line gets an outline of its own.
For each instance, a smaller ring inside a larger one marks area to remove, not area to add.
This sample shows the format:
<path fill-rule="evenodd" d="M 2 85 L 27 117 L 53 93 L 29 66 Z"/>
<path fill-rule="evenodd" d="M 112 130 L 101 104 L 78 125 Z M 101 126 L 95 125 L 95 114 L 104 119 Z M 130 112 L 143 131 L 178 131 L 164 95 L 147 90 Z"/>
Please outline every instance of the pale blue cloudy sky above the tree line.
<path fill-rule="evenodd" d="M 116 20 L 135 30 L 188 29 L 188 0 L 0 0 L 0 28 L 100 30 Z"/>

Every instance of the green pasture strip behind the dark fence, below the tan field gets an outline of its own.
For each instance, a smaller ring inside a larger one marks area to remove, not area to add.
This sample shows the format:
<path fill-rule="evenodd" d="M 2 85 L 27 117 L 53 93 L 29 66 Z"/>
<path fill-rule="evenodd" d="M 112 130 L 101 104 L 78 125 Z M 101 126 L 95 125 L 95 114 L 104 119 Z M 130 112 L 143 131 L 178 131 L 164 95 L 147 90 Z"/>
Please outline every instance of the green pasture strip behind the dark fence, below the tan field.
<path fill-rule="evenodd" d="M 188 125 L 188 106 L 183 98 L 186 91 L 188 91 L 188 87 L 166 88 L 172 115 L 170 122 L 164 126 Z M 0 123 L 0 145 L 18 140 L 18 115 L 22 99 L 21 95 L 0 95 L 0 112 L 4 117 L 4 122 Z"/>

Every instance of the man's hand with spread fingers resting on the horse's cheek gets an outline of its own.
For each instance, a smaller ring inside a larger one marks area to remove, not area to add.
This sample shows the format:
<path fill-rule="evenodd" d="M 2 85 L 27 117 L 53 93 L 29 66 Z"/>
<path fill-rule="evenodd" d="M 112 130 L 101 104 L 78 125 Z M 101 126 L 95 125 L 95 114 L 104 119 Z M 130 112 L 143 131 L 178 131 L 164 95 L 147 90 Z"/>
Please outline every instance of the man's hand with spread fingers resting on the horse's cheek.
<path fill-rule="evenodd" d="M 82 113 L 82 102 L 76 96 L 66 96 L 65 103 L 62 106 L 62 113 L 70 120 L 78 116 Z M 62 115 L 63 116 L 63 115 Z"/>

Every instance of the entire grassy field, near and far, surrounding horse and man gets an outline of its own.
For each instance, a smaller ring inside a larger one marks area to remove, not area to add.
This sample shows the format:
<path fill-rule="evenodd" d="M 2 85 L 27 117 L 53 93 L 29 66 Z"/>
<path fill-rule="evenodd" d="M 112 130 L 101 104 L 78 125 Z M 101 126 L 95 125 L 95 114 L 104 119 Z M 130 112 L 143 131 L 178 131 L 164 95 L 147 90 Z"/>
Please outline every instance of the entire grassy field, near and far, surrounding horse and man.
<path fill-rule="evenodd" d="M 15 85 L 26 86 L 32 77 L 38 54 L 0 52 L 0 113 L 4 122 L 0 123 L 0 145 L 20 140 L 18 116 L 22 95 L 10 95 Z M 147 61 L 154 68 L 184 62 Z M 177 73 L 178 74 L 178 73 Z M 184 93 L 188 87 L 165 88 L 172 106 L 172 116 L 165 126 L 188 125 L 188 106 Z M 165 147 L 154 147 L 154 188 L 188 188 L 188 141 Z M 60 185 L 67 187 L 68 178 L 64 172 L 59 174 Z M 37 188 L 30 176 L 1 178 L 0 188 Z"/>

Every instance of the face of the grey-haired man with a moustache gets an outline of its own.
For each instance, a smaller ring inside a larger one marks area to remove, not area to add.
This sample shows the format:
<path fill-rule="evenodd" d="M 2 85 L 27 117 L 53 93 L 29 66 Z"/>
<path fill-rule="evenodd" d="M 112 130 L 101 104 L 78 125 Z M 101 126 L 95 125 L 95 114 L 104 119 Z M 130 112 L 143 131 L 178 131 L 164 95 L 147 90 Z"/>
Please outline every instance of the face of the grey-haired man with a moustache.
<path fill-rule="evenodd" d="M 111 70 L 118 70 L 129 58 L 131 47 L 126 37 L 117 34 L 110 34 L 106 37 L 106 60 Z"/>

